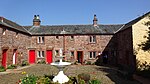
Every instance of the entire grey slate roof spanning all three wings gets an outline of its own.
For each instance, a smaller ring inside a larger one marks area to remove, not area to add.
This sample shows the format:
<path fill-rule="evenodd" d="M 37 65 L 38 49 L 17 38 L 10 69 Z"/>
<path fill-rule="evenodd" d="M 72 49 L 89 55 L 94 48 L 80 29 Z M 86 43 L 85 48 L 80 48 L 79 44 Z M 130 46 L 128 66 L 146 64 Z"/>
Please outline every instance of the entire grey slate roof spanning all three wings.
<path fill-rule="evenodd" d="M 150 14 L 150 12 L 128 22 L 127 24 L 113 24 L 98 26 L 91 25 L 40 25 L 20 26 L 15 22 L 0 17 L 0 25 L 24 32 L 29 35 L 62 35 L 62 34 L 115 34 L 130 28 L 133 24 Z M 3 21 L 2 21 L 3 19 Z"/>

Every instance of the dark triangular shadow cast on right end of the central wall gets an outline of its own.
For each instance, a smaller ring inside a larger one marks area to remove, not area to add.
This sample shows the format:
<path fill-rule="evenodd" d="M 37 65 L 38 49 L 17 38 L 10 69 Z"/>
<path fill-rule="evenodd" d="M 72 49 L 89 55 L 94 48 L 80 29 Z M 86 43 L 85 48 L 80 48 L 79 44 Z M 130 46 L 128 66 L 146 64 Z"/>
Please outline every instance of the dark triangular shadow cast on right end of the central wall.
<path fill-rule="evenodd" d="M 98 59 L 95 62 L 96 65 L 100 66 L 105 64 L 111 64 L 114 66 L 118 65 L 117 42 L 114 36 L 109 40 L 109 43 L 106 45 L 101 55 L 98 55 L 97 58 Z"/>

